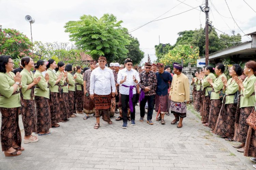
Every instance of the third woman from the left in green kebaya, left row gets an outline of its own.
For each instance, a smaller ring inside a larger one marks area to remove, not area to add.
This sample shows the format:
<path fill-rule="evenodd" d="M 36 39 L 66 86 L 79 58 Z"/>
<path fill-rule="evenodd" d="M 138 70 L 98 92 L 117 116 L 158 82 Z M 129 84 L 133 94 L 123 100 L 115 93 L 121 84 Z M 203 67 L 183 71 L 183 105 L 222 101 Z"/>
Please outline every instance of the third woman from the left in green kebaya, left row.
<path fill-rule="evenodd" d="M 49 110 L 49 98 L 50 91 L 48 87 L 49 75 L 45 73 L 45 77 L 42 72 L 46 70 L 47 62 L 43 60 L 38 60 L 37 65 L 35 65 L 34 77 L 41 77 L 41 80 L 35 85 L 35 109 L 37 113 L 37 133 L 38 135 L 47 135 L 51 132 L 51 117 Z"/>

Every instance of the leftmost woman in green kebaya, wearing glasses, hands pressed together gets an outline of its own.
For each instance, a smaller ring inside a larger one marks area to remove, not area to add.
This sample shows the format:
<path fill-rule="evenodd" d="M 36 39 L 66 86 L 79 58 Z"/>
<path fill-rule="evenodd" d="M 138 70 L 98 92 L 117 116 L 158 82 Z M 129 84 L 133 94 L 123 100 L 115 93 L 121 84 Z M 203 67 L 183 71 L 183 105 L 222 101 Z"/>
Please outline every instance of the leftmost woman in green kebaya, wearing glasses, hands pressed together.
<path fill-rule="evenodd" d="M 13 66 L 11 56 L 0 56 L 1 145 L 5 156 L 18 156 L 24 150 L 19 130 L 19 88 L 22 88 L 22 76 L 19 72 L 14 75 Z"/>

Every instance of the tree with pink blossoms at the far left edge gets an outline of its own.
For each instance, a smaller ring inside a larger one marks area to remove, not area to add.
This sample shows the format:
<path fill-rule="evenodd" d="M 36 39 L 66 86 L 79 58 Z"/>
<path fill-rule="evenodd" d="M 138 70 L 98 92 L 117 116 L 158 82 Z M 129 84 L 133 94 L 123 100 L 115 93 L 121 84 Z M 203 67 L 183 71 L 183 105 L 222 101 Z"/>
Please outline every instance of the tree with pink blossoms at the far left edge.
<path fill-rule="evenodd" d="M 9 55 L 13 59 L 31 55 L 30 40 L 26 35 L 15 29 L 4 28 L 0 25 L 0 55 Z"/>

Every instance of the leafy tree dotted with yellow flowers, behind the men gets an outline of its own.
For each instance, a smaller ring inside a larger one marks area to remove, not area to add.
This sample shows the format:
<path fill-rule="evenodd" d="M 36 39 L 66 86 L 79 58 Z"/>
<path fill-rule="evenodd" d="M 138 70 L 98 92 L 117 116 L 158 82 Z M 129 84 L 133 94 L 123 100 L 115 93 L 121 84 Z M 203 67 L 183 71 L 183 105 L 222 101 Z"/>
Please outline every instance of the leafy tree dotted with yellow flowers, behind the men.
<path fill-rule="evenodd" d="M 188 63 L 191 63 L 191 66 L 196 66 L 197 59 L 200 59 L 199 48 L 185 44 L 175 46 L 160 59 L 160 62 L 164 65 L 170 65 L 172 68 L 174 62 L 181 64 L 182 60 L 183 66 L 187 67 Z"/>

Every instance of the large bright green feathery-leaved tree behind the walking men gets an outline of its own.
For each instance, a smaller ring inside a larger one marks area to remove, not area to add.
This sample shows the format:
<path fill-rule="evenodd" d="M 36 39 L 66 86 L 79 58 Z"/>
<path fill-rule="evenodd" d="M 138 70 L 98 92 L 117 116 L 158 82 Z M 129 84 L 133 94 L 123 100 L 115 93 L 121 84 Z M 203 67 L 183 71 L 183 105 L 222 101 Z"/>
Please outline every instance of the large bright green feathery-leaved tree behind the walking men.
<path fill-rule="evenodd" d="M 78 21 L 67 22 L 64 28 L 70 33 L 70 41 L 87 51 L 93 59 L 104 55 L 110 62 L 123 59 L 128 53 L 129 35 L 127 29 L 121 27 L 122 22 L 117 21 L 113 14 L 104 14 L 100 19 L 83 15 Z"/>

